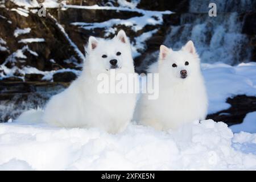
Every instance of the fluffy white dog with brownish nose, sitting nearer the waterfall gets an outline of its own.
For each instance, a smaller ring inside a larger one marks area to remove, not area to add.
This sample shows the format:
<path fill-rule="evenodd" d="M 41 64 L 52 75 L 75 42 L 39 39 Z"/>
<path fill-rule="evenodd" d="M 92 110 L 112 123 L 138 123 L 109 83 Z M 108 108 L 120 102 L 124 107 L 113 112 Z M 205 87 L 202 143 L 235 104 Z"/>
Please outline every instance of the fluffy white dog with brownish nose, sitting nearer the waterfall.
<path fill-rule="evenodd" d="M 159 60 L 148 72 L 159 73 L 159 98 L 148 100 L 143 94 L 135 114 L 138 122 L 158 130 L 168 130 L 205 119 L 207 92 L 200 59 L 192 41 L 180 51 L 161 46 Z"/>

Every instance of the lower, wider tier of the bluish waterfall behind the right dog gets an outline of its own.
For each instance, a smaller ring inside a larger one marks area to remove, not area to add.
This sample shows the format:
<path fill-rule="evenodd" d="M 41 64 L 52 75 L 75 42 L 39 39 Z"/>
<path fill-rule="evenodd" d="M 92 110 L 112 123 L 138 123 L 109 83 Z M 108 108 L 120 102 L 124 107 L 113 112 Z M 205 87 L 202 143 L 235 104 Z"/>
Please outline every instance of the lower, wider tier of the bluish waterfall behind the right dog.
<path fill-rule="evenodd" d="M 217 17 L 187 13 L 181 15 L 181 22 L 180 26 L 170 27 L 166 46 L 179 49 L 192 40 L 203 63 L 221 61 L 233 65 L 250 60 L 249 39 L 241 33 L 238 13 L 221 13 Z"/>

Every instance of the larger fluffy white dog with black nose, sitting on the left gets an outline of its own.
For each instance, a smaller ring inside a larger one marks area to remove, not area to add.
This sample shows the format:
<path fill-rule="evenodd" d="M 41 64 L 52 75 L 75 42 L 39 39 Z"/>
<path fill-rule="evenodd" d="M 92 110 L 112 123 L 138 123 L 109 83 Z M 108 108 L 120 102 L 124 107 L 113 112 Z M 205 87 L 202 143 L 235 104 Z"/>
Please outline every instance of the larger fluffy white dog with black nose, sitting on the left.
<path fill-rule="evenodd" d="M 90 36 L 86 52 L 81 75 L 68 89 L 51 98 L 42 121 L 60 127 L 98 127 L 118 133 L 133 117 L 136 94 L 99 93 L 97 76 L 110 75 L 113 69 L 116 73 L 134 73 L 129 40 L 122 30 L 111 40 Z"/>

